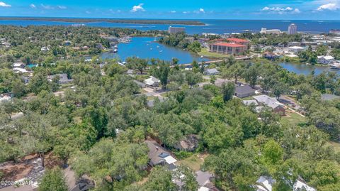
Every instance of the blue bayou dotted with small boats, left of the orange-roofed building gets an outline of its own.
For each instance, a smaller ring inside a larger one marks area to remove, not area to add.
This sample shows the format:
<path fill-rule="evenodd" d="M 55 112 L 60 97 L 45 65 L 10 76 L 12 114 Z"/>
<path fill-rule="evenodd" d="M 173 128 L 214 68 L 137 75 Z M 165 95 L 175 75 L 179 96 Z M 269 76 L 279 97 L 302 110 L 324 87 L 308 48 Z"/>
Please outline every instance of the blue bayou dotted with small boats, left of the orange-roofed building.
<path fill-rule="evenodd" d="M 125 60 L 128 57 L 136 56 L 139 58 L 159 58 L 160 60 L 171 61 L 172 58 L 178 58 L 180 64 L 191 63 L 193 60 L 198 62 L 207 61 L 206 58 L 200 58 L 186 50 L 169 47 L 154 41 L 151 37 L 135 37 L 130 43 L 118 44 L 118 53 L 103 53 L 101 57 L 120 58 Z"/>

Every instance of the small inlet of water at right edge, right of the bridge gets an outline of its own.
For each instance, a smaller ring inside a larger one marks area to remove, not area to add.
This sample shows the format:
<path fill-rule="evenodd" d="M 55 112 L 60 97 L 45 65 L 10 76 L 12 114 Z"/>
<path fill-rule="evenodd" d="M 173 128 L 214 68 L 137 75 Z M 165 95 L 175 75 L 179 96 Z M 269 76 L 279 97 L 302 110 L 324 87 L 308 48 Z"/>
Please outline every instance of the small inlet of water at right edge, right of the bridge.
<path fill-rule="evenodd" d="M 300 64 L 293 64 L 288 62 L 283 62 L 279 64 L 286 70 L 290 72 L 295 72 L 299 75 L 310 75 L 314 70 L 315 75 L 319 75 L 322 72 L 336 72 L 340 75 L 340 70 L 331 69 L 327 66 L 313 66 L 313 65 L 300 65 Z"/>

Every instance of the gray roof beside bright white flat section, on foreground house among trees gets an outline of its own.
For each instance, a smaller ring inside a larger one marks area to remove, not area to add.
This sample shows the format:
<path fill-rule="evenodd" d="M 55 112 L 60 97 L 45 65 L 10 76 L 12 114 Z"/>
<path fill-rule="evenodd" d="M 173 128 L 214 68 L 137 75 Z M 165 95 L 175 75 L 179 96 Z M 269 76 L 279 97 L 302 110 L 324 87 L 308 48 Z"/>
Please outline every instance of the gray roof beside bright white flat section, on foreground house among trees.
<path fill-rule="evenodd" d="M 166 152 L 162 146 L 156 141 L 145 141 L 147 147 L 149 148 L 149 153 L 147 154 L 150 159 L 150 165 L 159 165 L 165 162 L 165 157 L 169 156 L 170 153 Z"/>

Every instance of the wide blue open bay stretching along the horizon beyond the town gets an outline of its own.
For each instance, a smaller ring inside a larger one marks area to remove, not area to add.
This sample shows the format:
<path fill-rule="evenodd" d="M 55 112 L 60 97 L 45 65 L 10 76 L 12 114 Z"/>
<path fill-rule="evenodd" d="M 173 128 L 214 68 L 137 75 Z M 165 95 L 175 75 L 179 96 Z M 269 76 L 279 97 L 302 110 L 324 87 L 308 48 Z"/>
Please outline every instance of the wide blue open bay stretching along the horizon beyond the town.
<path fill-rule="evenodd" d="M 199 33 L 242 33 L 246 30 L 261 31 L 261 28 L 280 29 L 287 31 L 290 23 L 297 24 L 297 31 L 311 32 L 311 33 L 327 33 L 334 28 L 340 28 L 340 21 L 270 21 L 270 20 L 199 20 L 206 24 L 206 26 L 185 26 L 186 32 L 189 34 Z M 0 21 L 2 25 L 63 25 L 71 26 L 77 23 L 53 22 L 53 21 Z M 141 31 L 147 30 L 167 30 L 169 25 L 163 24 L 129 24 L 129 23 L 84 23 L 86 26 L 101 26 L 101 27 L 119 27 L 119 28 L 136 28 Z M 176 26 L 176 25 L 172 25 Z"/>

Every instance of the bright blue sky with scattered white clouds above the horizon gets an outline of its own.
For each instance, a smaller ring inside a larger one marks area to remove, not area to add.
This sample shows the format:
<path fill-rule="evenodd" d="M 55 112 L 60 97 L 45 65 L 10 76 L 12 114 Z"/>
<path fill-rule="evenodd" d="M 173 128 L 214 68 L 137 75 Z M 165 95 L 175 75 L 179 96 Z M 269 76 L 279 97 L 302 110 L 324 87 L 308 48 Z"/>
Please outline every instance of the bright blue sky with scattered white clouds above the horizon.
<path fill-rule="evenodd" d="M 340 20 L 340 0 L 0 0 L 0 16 Z"/>

